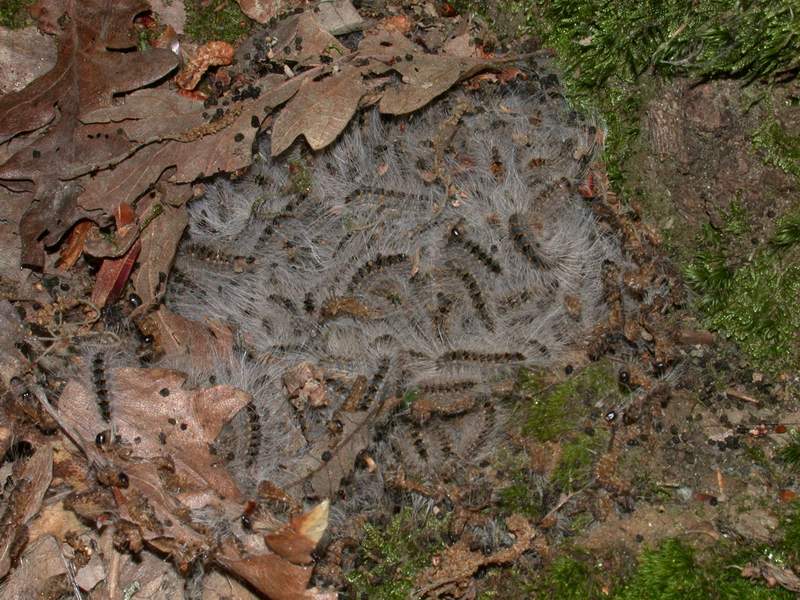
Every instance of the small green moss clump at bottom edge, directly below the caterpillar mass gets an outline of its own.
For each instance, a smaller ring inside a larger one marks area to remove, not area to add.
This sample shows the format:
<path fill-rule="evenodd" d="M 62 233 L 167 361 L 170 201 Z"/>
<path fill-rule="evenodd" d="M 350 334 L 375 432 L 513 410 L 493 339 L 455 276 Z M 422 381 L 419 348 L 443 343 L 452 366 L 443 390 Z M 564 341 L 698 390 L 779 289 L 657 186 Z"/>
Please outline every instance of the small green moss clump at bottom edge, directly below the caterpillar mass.
<path fill-rule="evenodd" d="M 349 597 L 407 600 L 419 573 L 444 549 L 446 531 L 446 519 L 421 517 L 408 507 L 385 527 L 365 525 L 356 559 L 359 566 L 347 574 Z"/>

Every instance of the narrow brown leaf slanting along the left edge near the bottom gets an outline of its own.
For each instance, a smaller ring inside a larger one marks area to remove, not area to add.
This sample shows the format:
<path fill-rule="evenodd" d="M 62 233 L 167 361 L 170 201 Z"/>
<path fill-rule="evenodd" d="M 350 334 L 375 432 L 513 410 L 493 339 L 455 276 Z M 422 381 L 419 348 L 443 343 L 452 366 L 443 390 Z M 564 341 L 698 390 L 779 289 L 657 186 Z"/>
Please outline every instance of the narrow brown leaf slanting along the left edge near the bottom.
<path fill-rule="evenodd" d="M 8 573 L 15 551 L 24 545 L 25 525 L 39 512 L 52 478 L 53 450 L 49 444 L 38 444 L 33 456 L 14 464 L 14 485 L 4 494 L 0 523 L 0 577 Z"/>

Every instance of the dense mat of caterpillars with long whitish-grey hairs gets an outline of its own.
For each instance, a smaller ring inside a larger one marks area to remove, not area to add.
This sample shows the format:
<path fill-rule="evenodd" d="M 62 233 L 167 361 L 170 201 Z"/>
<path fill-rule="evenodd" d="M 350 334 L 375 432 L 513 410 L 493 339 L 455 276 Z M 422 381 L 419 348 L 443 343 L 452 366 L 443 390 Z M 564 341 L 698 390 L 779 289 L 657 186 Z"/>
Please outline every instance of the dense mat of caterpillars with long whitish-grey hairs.
<path fill-rule="evenodd" d="M 607 316 L 603 264 L 624 259 L 575 191 L 588 126 L 524 86 L 470 95 L 447 148 L 433 140 L 462 92 L 368 113 L 327 150 L 296 145 L 189 206 L 166 303 L 230 324 L 257 358 L 214 374 L 253 396 L 216 444 L 246 490 L 302 482 L 293 500 L 330 494 L 336 522 L 388 501 L 398 470 L 474 485 L 505 420 L 497 378 L 557 364 Z M 302 363 L 321 370 L 313 406 L 283 383 Z"/>

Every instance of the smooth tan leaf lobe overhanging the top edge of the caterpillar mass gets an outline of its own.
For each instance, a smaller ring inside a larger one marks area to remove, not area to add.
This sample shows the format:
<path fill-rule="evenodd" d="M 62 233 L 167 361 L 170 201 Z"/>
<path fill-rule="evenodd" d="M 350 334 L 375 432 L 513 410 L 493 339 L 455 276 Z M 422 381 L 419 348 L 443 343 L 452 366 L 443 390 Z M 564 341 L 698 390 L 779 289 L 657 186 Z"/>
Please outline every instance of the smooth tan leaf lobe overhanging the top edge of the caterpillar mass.
<path fill-rule="evenodd" d="M 319 150 L 344 130 L 366 93 L 361 71 L 344 65 L 321 80 L 306 79 L 283 108 L 272 128 L 272 156 L 286 150 L 299 135 Z"/>

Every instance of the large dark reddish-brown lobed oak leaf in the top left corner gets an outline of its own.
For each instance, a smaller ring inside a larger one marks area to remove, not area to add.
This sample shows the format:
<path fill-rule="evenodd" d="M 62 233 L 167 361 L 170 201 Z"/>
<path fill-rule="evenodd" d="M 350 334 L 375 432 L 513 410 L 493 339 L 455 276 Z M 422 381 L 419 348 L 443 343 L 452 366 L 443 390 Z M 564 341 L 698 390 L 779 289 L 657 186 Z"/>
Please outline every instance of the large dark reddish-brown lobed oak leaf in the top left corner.
<path fill-rule="evenodd" d="M 20 92 L 0 98 L 0 144 L 47 129 L 0 165 L 0 181 L 34 194 L 20 224 L 22 258 L 42 267 L 43 248 L 57 243 L 76 221 L 107 222 L 112 213 L 91 216 L 80 210 L 75 200 L 81 185 L 66 181 L 92 170 L 85 165 L 105 163 L 131 146 L 113 124 L 82 125 L 81 113 L 110 106 L 114 94 L 157 81 L 177 66 L 177 57 L 162 49 L 123 51 L 136 49 L 133 19 L 148 8 L 141 0 L 51 1 L 35 8 L 40 28 L 57 34 L 57 62 Z M 118 203 L 106 202 L 112 208 Z"/>

